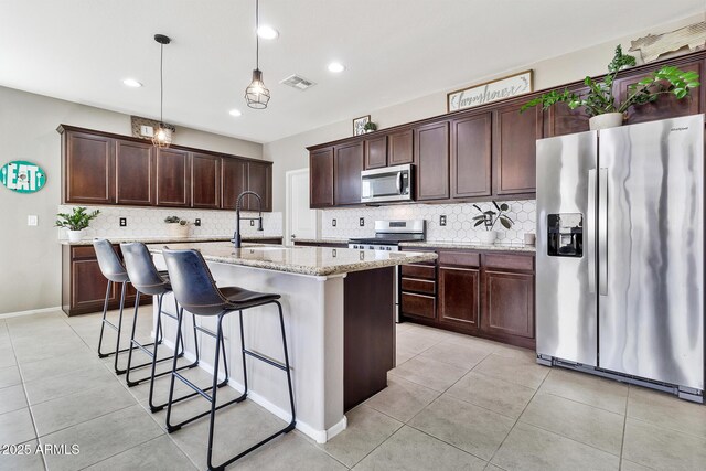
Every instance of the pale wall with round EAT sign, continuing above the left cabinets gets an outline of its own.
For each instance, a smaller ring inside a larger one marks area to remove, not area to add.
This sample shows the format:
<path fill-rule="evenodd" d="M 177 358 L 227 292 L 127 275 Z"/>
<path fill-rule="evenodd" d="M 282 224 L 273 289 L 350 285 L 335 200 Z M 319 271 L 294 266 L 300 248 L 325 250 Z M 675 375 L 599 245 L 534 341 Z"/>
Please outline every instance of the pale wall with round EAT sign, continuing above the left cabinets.
<path fill-rule="evenodd" d="M 28 160 L 47 175 L 38 193 L 0 188 L 0 313 L 61 303 L 61 246 L 54 227 L 61 203 L 60 124 L 130 135 L 128 115 L 0 87 L 0 165 Z M 174 143 L 263 157 L 259 143 L 181 127 Z M 39 216 L 39 226 L 26 225 L 30 214 Z"/>

